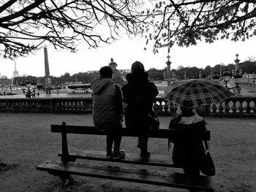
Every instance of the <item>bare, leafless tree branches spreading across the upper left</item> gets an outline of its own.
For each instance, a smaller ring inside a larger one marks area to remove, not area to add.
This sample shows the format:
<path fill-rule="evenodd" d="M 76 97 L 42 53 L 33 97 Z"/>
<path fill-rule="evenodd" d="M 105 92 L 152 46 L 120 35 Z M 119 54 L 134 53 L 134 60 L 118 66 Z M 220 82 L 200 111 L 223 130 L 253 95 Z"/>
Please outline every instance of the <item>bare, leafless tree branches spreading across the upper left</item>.
<path fill-rule="evenodd" d="M 0 54 L 26 55 L 45 43 L 75 51 L 81 42 L 98 47 L 118 34 L 138 33 L 146 18 L 141 0 L 2 0 Z"/>

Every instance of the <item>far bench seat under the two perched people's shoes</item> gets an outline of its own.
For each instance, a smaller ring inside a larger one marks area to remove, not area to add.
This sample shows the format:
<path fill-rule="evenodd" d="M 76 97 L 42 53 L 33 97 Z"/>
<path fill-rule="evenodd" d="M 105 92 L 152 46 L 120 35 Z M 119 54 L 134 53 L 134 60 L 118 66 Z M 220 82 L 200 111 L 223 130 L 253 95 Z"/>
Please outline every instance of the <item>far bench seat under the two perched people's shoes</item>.
<path fill-rule="evenodd" d="M 61 156 L 61 154 L 59 154 Z M 141 158 L 139 154 L 126 153 L 124 159 L 115 160 L 113 158 L 107 158 L 105 151 L 99 150 L 83 150 L 82 153 L 70 153 L 70 158 L 75 161 L 76 158 L 95 160 L 95 161 L 109 161 L 109 162 L 119 162 L 125 164 L 140 164 L 148 166 L 164 166 L 164 167 L 176 167 L 181 168 L 181 166 L 176 166 L 173 164 L 171 156 L 163 155 L 151 155 L 149 158 Z"/>

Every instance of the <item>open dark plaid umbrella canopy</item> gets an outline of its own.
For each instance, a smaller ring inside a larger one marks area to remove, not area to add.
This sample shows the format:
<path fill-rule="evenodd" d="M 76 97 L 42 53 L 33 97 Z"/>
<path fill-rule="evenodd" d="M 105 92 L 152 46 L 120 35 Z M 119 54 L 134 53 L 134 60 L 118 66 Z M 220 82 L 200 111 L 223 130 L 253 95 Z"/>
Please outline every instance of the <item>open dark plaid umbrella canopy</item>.
<path fill-rule="evenodd" d="M 233 93 L 222 85 L 203 80 L 192 80 L 171 89 L 165 99 L 183 107 L 191 108 L 206 104 L 217 104 L 230 96 L 233 96 Z"/>

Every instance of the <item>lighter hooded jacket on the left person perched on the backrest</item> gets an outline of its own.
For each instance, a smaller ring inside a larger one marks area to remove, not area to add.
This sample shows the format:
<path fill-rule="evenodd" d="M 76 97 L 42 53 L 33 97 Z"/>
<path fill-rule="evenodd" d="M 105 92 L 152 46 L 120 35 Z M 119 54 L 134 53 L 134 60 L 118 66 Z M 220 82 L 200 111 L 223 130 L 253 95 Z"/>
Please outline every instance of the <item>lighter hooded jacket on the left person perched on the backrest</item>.
<path fill-rule="evenodd" d="M 100 131 L 121 126 L 123 103 L 121 89 L 110 78 L 97 78 L 91 82 L 94 126 Z"/>

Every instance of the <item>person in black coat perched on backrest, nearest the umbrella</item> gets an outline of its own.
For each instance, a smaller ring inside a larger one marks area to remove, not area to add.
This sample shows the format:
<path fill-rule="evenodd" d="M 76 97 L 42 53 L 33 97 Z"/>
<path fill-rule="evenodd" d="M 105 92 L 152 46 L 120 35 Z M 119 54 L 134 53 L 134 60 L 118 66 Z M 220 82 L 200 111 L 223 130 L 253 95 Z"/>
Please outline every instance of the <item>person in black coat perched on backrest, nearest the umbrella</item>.
<path fill-rule="evenodd" d="M 143 64 L 135 61 L 132 64 L 132 73 L 127 74 L 127 85 L 121 88 L 125 110 L 125 123 L 127 128 L 138 131 L 138 147 L 140 156 L 148 158 L 148 131 L 151 128 L 148 114 L 152 111 L 154 99 L 158 95 L 157 86 L 148 80 Z"/>

